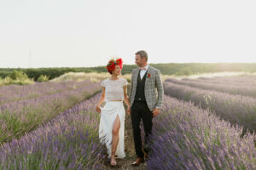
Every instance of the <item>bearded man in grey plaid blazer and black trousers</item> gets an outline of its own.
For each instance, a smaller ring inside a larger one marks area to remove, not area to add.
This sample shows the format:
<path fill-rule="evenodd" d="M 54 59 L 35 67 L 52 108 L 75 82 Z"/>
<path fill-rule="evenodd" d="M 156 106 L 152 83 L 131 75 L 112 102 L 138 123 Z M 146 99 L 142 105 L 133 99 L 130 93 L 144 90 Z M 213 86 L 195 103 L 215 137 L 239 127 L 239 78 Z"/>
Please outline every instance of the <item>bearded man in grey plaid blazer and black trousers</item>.
<path fill-rule="evenodd" d="M 132 70 L 131 75 L 131 123 L 137 160 L 132 166 L 137 167 L 148 158 L 148 135 L 151 133 L 154 116 L 160 114 L 164 90 L 160 78 L 160 71 L 148 65 L 148 54 L 141 50 L 136 53 L 135 63 L 138 68 Z M 157 94 L 156 95 L 156 89 Z M 143 120 L 145 142 L 142 148 L 140 122 Z"/>

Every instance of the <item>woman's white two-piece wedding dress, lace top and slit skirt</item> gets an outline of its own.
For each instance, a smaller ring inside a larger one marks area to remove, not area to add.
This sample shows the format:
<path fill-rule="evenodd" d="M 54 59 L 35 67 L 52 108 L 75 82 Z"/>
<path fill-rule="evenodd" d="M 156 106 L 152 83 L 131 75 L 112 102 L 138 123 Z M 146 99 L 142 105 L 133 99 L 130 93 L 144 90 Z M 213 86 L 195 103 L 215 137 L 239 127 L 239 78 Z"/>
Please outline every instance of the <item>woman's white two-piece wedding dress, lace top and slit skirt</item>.
<path fill-rule="evenodd" d="M 101 108 L 101 120 L 99 126 L 99 138 L 102 144 L 106 144 L 108 149 L 108 158 L 111 156 L 112 149 L 112 129 L 113 122 L 117 116 L 120 120 L 119 143 L 115 152 L 117 158 L 125 158 L 125 107 L 123 105 L 124 89 L 128 82 L 125 78 L 118 80 L 105 79 L 102 81 L 102 87 L 105 87 L 106 104 Z M 113 101 L 122 100 L 122 101 Z"/>

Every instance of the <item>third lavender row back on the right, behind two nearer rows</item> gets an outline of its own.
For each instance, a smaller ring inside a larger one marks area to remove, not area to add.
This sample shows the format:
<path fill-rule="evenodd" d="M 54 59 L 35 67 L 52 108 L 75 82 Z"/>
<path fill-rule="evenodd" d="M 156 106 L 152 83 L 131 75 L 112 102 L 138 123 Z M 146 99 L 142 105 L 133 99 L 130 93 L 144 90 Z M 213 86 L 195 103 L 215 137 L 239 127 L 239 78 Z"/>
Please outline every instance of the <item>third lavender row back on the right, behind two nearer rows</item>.
<path fill-rule="evenodd" d="M 229 93 L 229 94 L 241 94 L 246 96 L 251 96 L 253 98 L 256 97 L 256 86 L 255 84 L 248 85 L 248 84 L 232 84 L 229 83 L 209 83 L 209 82 L 195 82 L 189 80 L 177 80 L 174 78 L 166 79 L 166 82 L 173 82 L 176 84 L 190 86 L 192 88 L 201 88 L 207 90 L 216 90 L 219 92 Z"/>

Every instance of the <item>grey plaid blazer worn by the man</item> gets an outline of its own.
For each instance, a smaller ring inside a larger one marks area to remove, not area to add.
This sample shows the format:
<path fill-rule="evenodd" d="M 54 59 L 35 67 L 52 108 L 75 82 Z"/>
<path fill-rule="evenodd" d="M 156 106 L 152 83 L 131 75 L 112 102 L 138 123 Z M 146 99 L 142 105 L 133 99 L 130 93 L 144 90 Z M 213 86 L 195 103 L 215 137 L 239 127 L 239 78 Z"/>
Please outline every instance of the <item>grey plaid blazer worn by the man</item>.
<path fill-rule="evenodd" d="M 135 94 L 137 90 L 137 77 L 139 74 L 139 68 L 133 69 L 131 74 L 131 91 L 129 94 L 131 105 L 134 102 Z M 149 76 L 149 75 L 150 76 Z M 150 111 L 154 110 L 154 107 L 161 107 L 164 89 L 160 78 L 160 71 L 154 67 L 148 65 L 148 71 L 145 82 L 145 98 Z"/>

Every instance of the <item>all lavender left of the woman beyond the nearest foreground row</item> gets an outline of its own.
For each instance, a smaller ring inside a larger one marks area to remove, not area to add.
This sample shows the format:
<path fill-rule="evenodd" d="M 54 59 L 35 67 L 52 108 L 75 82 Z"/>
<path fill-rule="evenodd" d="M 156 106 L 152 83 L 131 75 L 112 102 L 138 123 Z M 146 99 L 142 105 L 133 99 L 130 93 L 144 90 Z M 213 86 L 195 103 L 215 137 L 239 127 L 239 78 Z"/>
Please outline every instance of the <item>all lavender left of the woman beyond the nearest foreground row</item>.
<path fill-rule="evenodd" d="M 100 90 L 99 82 L 89 81 L 0 87 L 1 98 L 9 101 L 0 105 L 0 144 L 19 138 Z"/>

